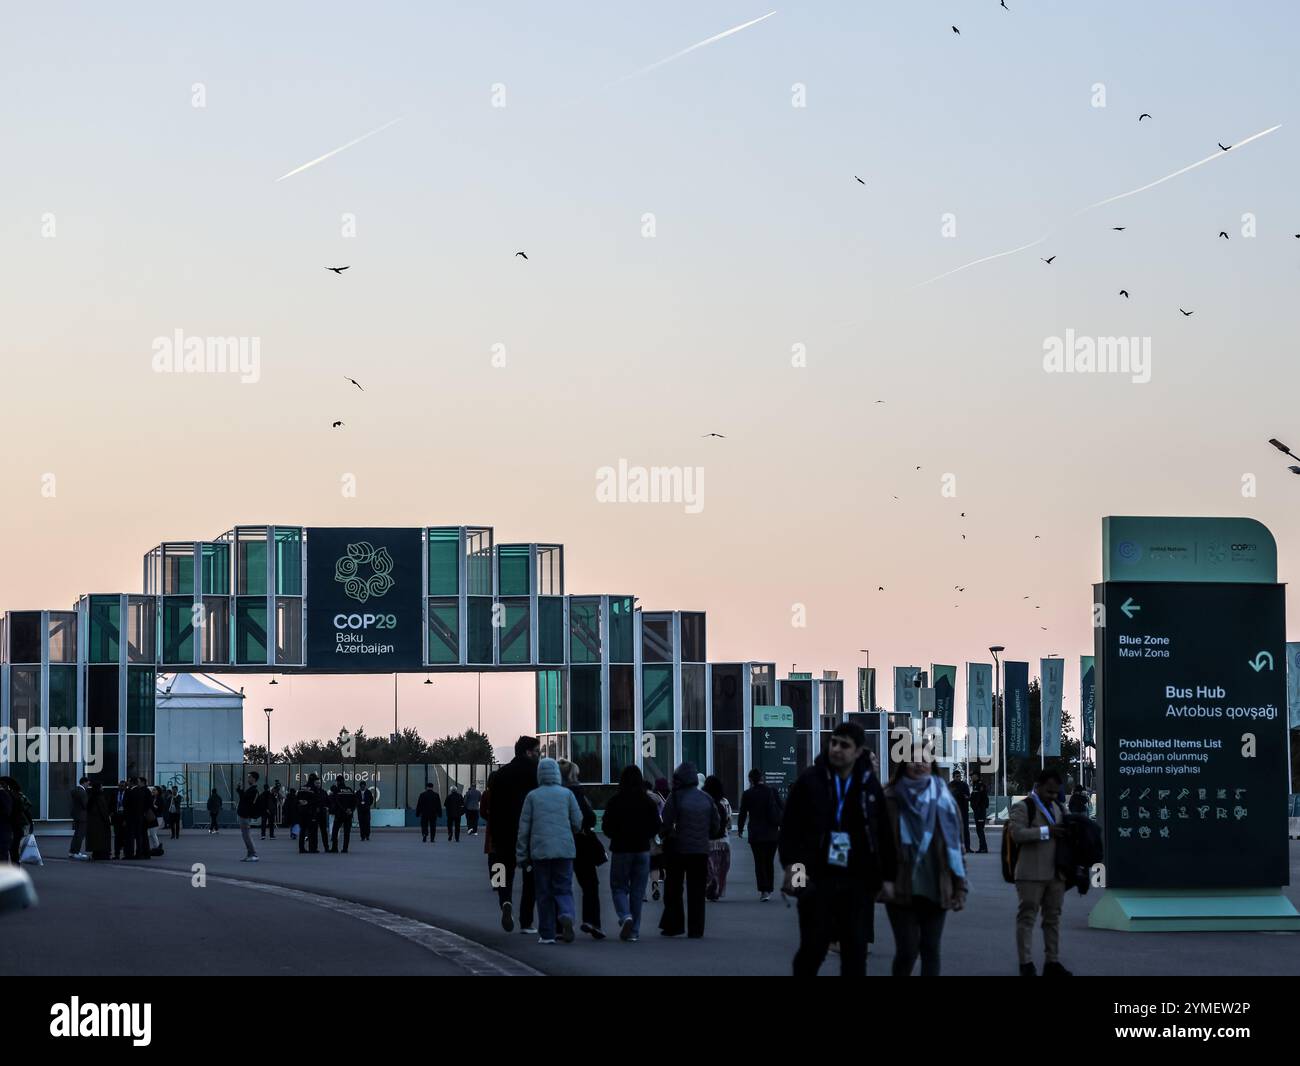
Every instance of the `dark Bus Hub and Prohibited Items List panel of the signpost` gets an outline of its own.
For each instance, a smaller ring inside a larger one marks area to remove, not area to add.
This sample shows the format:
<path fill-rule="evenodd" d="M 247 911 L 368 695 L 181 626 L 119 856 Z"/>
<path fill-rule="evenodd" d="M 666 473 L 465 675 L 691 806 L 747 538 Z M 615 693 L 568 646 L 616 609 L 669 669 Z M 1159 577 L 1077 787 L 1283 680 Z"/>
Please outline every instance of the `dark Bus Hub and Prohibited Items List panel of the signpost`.
<path fill-rule="evenodd" d="M 1097 586 L 1108 888 L 1288 880 L 1284 588 Z"/>

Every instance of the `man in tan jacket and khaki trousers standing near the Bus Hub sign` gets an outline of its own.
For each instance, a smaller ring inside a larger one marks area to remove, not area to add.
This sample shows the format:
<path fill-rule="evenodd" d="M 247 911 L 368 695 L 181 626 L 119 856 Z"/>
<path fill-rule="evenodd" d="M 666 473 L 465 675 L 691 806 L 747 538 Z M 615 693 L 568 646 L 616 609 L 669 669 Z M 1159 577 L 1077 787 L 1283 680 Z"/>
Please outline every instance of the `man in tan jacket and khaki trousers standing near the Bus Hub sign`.
<path fill-rule="evenodd" d="M 1039 775 L 1034 790 L 1011 807 L 1008 832 L 1018 845 L 1015 858 L 1015 894 L 1020 906 L 1015 914 L 1015 950 L 1020 958 L 1020 976 L 1036 976 L 1034 968 L 1034 920 L 1043 911 L 1043 948 L 1046 961 L 1045 978 L 1069 978 L 1061 965 L 1061 905 L 1065 902 L 1065 880 L 1057 874 L 1057 841 L 1065 837 L 1065 811 L 1057 802 L 1061 775 L 1050 767 Z"/>

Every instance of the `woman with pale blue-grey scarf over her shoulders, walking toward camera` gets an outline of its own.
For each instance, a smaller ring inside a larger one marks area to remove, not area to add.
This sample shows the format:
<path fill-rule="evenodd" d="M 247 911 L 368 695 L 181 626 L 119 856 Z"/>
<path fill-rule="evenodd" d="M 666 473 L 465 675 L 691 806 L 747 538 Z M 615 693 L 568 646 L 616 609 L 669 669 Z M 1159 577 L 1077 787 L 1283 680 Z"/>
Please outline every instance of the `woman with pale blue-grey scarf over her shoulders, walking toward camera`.
<path fill-rule="evenodd" d="M 952 786 L 930 763 L 900 763 L 885 788 L 885 809 L 898 866 L 885 914 L 894 935 L 893 975 L 937 978 L 939 944 L 948 911 L 966 905 L 961 809 Z"/>

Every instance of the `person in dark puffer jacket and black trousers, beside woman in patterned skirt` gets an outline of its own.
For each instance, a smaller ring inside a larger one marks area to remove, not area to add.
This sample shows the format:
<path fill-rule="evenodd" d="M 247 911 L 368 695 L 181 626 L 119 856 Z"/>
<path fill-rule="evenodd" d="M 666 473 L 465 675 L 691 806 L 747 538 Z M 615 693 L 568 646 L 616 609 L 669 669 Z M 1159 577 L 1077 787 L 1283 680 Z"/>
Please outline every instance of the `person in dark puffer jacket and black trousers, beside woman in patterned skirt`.
<path fill-rule="evenodd" d="M 663 805 L 664 853 L 668 857 L 668 879 L 664 884 L 663 936 L 686 936 L 698 940 L 705 935 L 705 888 L 708 883 L 708 842 L 722 833 L 718 805 L 699 790 L 699 774 L 694 763 L 682 763 L 672 772 L 672 794 Z M 686 889 L 682 911 L 681 890 Z"/>

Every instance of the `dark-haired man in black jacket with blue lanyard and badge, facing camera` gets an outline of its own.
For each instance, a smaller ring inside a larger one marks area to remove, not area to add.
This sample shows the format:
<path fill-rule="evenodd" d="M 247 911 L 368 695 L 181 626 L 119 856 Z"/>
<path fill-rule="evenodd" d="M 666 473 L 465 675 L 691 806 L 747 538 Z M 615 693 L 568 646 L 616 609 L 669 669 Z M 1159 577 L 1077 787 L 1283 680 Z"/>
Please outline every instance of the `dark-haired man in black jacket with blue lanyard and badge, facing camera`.
<path fill-rule="evenodd" d="M 781 892 L 798 896 L 796 976 L 816 976 L 829 942 L 840 942 L 840 975 L 867 972 L 867 928 L 876 896 L 893 894 L 898 867 L 884 792 L 870 770 L 866 733 L 845 722 L 827 751 L 790 788 L 781 822 Z"/>

